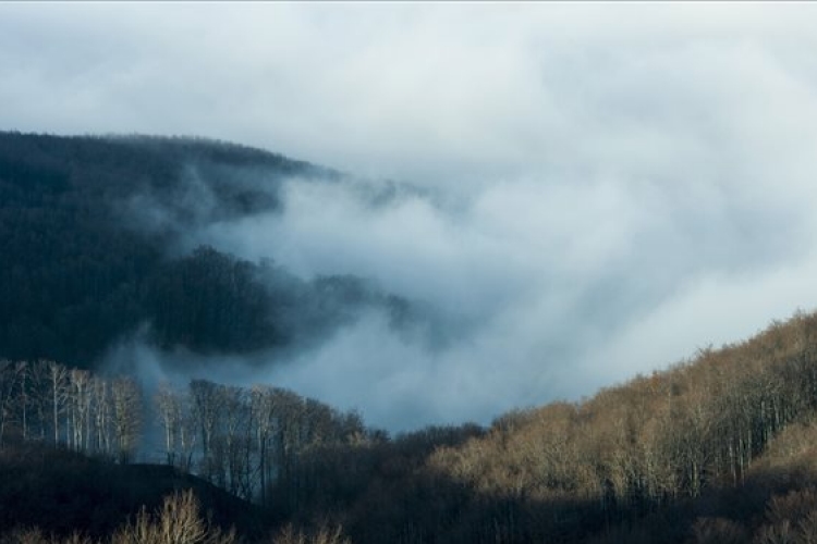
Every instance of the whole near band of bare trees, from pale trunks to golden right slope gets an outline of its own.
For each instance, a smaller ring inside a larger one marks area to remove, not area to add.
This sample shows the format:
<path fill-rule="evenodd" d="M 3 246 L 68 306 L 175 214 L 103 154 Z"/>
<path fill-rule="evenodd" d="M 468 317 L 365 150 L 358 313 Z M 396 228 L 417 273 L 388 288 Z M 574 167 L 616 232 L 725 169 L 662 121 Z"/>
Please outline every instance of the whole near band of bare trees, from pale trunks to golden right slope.
<path fill-rule="evenodd" d="M 357 543 L 775 544 L 817 534 L 817 314 L 580 403 L 393 438 L 269 386 L 197 380 L 146 399 L 126 393 L 127 379 L 52 362 L 2 370 L 7 448 L 24 436 L 127 461 L 155 421 L 175 470 L 251 499 L 264 527 L 291 535 L 343 527 Z M 117 398 L 149 403 L 153 420 Z"/>

